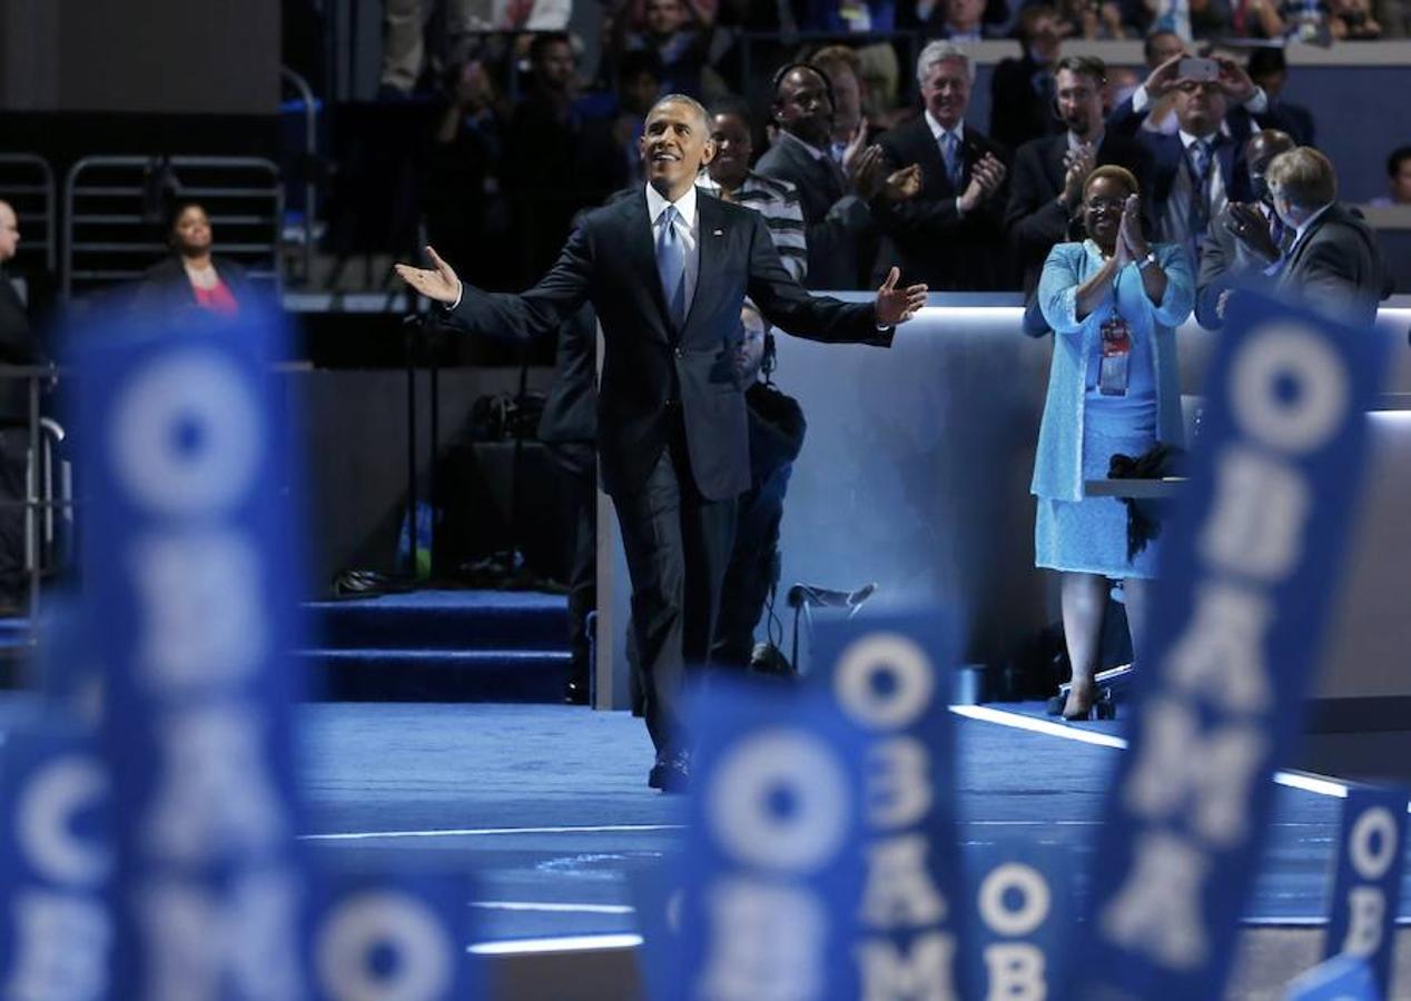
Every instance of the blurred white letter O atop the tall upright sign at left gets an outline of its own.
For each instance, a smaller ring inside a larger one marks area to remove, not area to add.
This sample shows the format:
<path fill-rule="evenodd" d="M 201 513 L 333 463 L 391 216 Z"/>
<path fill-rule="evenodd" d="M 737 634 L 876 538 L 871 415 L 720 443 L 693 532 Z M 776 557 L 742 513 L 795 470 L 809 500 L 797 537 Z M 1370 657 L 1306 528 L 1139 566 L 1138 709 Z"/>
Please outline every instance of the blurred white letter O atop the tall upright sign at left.
<path fill-rule="evenodd" d="M 113 416 L 113 471 L 137 503 L 219 513 L 254 486 L 264 422 L 247 376 L 222 354 L 155 362 L 123 386 Z"/>

